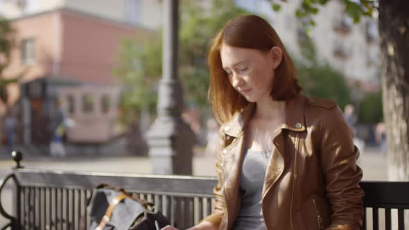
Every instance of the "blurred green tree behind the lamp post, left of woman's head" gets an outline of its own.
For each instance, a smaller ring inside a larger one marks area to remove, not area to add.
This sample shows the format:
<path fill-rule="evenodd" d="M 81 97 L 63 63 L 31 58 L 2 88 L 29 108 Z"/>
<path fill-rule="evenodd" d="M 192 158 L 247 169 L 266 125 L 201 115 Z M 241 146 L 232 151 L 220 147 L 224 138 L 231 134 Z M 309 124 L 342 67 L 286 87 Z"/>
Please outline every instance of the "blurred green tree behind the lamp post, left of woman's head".
<path fill-rule="evenodd" d="M 226 21 L 247 13 L 233 0 L 181 1 L 180 5 L 180 78 L 185 100 L 208 110 L 209 71 L 207 49 L 210 39 Z M 157 80 L 162 74 L 162 37 L 157 35 L 144 46 L 135 39 L 125 39 L 119 51 L 119 66 L 114 75 L 128 87 L 121 108 L 140 111 L 155 107 Z"/>

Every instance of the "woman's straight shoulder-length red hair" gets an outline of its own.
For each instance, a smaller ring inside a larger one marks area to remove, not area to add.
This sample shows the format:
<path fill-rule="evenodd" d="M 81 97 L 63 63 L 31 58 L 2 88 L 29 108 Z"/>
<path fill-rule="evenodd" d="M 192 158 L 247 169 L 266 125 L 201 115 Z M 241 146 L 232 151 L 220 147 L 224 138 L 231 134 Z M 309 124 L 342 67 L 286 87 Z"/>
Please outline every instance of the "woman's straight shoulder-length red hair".
<path fill-rule="evenodd" d="M 222 44 L 241 48 L 254 48 L 268 52 L 273 46 L 281 48 L 283 57 L 275 69 L 272 82 L 272 100 L 290 100 L 302 90 L 299 86 L 293 60 L 270 24 L 256 15 L 237 17 L 230 21 L 212 39 L 209 49 L 209 99 L 216 119 L 225 123 L 234 113 L 240 112 L 249 102 L 230 84 L 220 58 Z"/>

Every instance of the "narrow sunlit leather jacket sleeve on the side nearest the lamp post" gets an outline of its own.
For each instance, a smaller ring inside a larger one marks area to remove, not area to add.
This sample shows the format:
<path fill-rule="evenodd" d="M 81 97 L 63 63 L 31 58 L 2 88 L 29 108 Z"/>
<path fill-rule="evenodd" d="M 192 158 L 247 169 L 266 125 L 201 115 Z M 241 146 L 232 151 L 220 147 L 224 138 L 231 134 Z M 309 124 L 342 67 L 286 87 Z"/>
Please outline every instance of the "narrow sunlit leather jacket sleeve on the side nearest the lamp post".
<path fill-rule="evenodd" d="M 216 161 L 216 176 L 218 179 L 218 183 L 213 189 L 213 193 L 216 197 L 216 202 L 214 204 L 214 210 L 212 211 L 211 215 L 204 218 L 202 221 L 208 221 L 214 224 L 216 229 L 220 227 L 220 223 L 223 218 L 223 214 L 225 213 L 225 199 L 223 197 L 223 159 L 222 159 L 222 150 L 225 145 L 224 141 L 224 133 L 223 133 L 223 126 L 220 127 L 219 130 L 219 138 L 218 138 L 218 148 L 217 148 L 217 161 Z M 202 222 L 201 221 L 201 222 Z"/>

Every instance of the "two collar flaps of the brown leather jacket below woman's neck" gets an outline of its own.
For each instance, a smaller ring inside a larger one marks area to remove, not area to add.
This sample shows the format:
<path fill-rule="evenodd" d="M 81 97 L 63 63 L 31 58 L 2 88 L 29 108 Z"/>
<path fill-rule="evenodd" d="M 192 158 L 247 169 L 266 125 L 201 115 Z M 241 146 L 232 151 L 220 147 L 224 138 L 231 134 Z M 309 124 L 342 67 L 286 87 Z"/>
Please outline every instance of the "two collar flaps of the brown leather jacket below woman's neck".
<path fill-rule="evenodd" d="M 242 112 L 234 114 L 232 119 L 223 125 L 223 131 L 225 134 L 234 137 L 240 135 L 250 121 L 250 117 L 254 112 L 255 107 L 255 103 L 250 103 Z M 302 132 L 305 130 L 304 96 L 302 94 L 286 101 L 284 122 L 281 125 L 281 129 L 293 130 L 295 132 Z"/>

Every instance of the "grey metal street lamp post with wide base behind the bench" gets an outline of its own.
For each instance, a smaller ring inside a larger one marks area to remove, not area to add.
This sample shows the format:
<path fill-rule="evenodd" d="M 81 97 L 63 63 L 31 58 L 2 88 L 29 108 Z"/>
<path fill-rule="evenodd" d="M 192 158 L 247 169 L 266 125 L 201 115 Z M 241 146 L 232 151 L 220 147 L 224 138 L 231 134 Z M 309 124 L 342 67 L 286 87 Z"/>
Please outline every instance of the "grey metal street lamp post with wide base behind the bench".
<path fill-rule="evenodd" d="M 183 93 L 177 77 L 178 1 L 162 1 L 163 68 L 157 118 L 147 133 L 155 174 L 192 174 L 195 136 L 181 118 Z"/>

